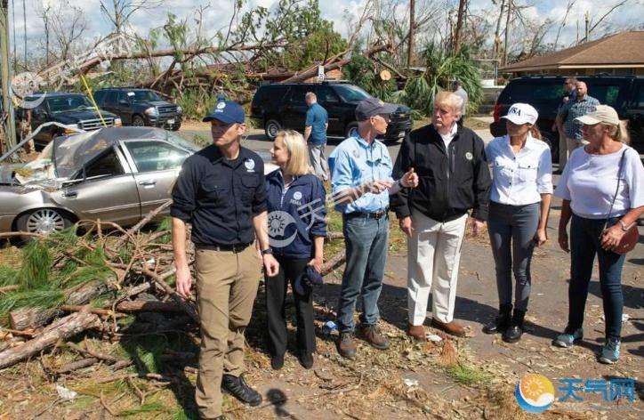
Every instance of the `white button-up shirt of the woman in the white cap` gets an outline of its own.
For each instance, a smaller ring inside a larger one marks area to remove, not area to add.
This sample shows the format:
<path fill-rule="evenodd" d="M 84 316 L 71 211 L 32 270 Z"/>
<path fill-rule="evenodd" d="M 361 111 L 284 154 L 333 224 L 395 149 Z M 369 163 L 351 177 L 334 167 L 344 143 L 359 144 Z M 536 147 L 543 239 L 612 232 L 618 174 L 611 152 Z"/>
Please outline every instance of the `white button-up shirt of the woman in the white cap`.
<path fill-rule="evenodd" d="M 540 202 L 541 194 L 552 193 L 550 148 L 530 133 L 516 155 L 510 136 L 504 135 L 487 143 L 486 156 L 492 166 L 492 201 L 525 206 Z"/>

